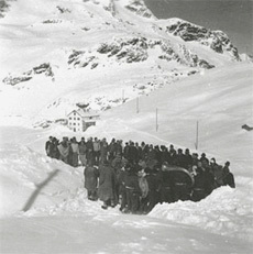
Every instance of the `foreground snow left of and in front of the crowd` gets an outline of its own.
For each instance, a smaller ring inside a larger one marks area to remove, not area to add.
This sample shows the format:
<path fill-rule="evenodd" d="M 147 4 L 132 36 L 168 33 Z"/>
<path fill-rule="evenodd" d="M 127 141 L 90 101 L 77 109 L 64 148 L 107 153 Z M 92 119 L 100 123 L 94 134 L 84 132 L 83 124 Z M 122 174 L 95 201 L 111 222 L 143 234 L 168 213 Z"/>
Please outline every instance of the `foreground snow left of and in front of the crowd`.
<path fill-rule="evenodd" d="M 1 253 L 252 252 L 250 178 L 200 202 L 123 214 L 87 199 L 82 167 L 44 155 L 50 131 L 2 126 L 1 134 Z"/>

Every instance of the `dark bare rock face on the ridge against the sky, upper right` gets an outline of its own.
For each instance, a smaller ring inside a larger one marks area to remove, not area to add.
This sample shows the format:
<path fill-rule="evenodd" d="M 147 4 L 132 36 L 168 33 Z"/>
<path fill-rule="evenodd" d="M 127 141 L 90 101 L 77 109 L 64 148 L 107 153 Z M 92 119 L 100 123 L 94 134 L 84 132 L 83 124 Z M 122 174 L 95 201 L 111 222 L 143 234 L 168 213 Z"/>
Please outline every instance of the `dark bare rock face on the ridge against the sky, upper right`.
<path fill-rule="evenodd" d="M 240 60 L 238 48 L 232 45 L 228 35 L 221 31 L 211 31 L 183 20 L 175 21 L 166 29 L 168 33 L 182 37 L 185 42 L 197 41 L 217 53 L 228 52 L 235 60 Z"/>

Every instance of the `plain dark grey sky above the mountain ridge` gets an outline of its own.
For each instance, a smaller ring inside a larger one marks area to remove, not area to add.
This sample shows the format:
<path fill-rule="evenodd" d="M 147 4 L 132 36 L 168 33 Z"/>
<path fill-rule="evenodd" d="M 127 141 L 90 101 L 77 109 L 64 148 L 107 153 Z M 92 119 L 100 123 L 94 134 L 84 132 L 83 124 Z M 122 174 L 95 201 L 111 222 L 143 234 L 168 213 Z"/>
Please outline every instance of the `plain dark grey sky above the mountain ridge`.
<path fill-rule="evenodd" d="M 253 54 L 253 0 L 144 0 L 160 19 L 180 18 L 226 32 L 240 53 Z"/>

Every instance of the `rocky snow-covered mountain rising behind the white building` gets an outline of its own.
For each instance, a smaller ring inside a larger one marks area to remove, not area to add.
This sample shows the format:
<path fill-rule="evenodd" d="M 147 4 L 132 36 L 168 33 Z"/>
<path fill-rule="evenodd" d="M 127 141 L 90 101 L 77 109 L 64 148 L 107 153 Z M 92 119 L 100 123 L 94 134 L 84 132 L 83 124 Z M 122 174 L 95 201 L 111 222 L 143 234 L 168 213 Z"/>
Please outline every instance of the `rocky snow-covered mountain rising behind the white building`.
<path fill-rule="evenodd" d="M 76 103 L 105 110 L 241 60 L 224 33 L 157 20 L 142 0 L 8 4 L 0 20 L 4 115 L 36 122 L 62 119 Z"/>

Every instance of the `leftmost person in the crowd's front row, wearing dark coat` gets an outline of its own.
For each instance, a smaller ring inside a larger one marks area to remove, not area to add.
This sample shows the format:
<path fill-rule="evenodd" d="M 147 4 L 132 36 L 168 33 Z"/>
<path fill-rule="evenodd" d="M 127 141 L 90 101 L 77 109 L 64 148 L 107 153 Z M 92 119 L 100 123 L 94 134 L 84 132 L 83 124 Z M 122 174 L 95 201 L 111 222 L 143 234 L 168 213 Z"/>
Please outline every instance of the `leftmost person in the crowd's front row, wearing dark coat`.
<path fill-rule="evenodd" d="M 88 192 L 89 200 L 97 200 L 97 187 L 98 187 L 98 169 L 94 166 L 92 161 L 88 161 L 88 165 L 84 170 L 85 188 Z"/>

